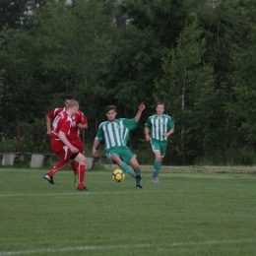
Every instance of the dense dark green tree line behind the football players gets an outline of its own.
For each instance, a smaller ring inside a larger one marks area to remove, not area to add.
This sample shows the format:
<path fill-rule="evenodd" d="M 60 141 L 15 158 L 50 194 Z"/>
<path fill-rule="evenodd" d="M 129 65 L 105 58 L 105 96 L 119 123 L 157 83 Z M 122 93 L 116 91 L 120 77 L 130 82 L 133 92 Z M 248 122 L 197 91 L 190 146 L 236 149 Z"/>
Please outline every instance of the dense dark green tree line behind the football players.
<path fill-rule="evenodd" d="M 90 134 L 106 105 L 131 118 L 143 101 L 130 147 L 151 154 L 143 127 L 161 101 L 175 124 L 166 163 L 253 164 L 255 13 L 254 0 L 2 0 L 1 138 L 65 95 Z"/>

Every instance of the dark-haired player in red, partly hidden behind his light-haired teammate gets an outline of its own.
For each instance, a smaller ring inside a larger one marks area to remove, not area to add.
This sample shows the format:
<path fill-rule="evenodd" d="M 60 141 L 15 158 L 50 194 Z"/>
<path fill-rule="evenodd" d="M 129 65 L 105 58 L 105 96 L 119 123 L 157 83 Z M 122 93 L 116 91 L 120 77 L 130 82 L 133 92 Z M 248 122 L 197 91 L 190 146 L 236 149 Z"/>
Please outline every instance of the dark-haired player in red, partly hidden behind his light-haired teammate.
<path fill-rule="evenodd" d="M 66 107 L 68 105 L 68 103 L 70 102 L 70 100 L 73 99 L 72 96 L 66 96 L 65 97 L 65 101 L 64 107 L 58 107 L 55 108 L 53 110 L 51 110 L 50 112 L 47 113 L 46 115 L 46 127 L 47 127 L 47 134 L 51 136 L 51 121 L 54 120 L 54 118 L 61 112 L 66 111 Z M 78 112 L 72 117 L 72 120 L 74 121 L 74 124 L 72 124 L 72 129 L 70 131 L 70 135 L 69 135 L 69 140 L 72 141 L 72 144 L 79 149 L 79 152 L 81 154 L 85 154 L 84 152 L 84 146 L 83 146 L 83 142 L 81 140 L 80 137 L 80 130 L 79 129 L 87 129 L 88 128 L 88 120 L 86 118 L 86 116 L 83 114 L 83 112 L 81 110 L 78 110 Z M 62 163 L 62 164 L 61 164 Z M 63 160 L 62 162 L 59 162 L 58 164 L 58 169 L 65 166 L 68 162 L 66 162 L 65 160 Z M 71 161 L 70 162 L 71 167 L 74 171 L 74 182 L 76 185 L 78 185 L 78 169 L 77 169 L 77 162 L 76 161 Z"/>

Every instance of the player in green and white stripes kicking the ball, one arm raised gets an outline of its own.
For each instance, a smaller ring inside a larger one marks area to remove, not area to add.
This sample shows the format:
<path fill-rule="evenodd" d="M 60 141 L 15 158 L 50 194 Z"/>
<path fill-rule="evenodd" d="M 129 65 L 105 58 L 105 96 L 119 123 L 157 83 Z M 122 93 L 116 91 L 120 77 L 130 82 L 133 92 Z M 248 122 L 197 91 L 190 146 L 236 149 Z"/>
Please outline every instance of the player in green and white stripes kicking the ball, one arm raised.
<path fill-rule="evenodd" d="M 116 108 L 114 105 L 108 105 L 105 108 L 107 121 L 99 124 L 93 146 L 93 155 L 96 156 L 96 147 L 99 142 L 104 139 L 104 149 L 107 158 L 113 160 L 123 171 L 128 172 L 131 176 L 136 178 L 136 188 L 143 188 L 140 184 L 142 178 L 140 164 L 126 144 L 130 130 L 137 127 L 137 123 L 144 109 L 145 105 L 141 103 L 134 118 L 115 119 L 117 114 Z M 133 169 L 128 164 L 131 165 Z"/>

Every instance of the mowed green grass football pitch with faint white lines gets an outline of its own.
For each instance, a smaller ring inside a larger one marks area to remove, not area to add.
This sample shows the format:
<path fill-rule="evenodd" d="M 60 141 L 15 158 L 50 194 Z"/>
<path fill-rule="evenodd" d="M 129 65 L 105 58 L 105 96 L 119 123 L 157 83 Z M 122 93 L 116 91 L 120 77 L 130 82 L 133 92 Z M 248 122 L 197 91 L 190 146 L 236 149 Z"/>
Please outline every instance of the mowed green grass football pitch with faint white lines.
<path fill-rule="evenodd" d="M 0 256 L 256 255 L 254 171 L 148 171 L 137 190 L 111 170 L 89 170 L 85 193 L 71 170 L 51 185 L 46 169 L 1 167 Z"/>

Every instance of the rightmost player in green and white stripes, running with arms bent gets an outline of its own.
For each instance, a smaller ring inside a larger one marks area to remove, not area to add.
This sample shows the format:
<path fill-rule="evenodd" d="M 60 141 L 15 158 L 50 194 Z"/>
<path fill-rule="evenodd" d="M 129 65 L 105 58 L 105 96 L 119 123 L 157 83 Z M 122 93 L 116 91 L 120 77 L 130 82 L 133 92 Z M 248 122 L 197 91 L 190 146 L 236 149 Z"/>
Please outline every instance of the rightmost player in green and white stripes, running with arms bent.
<path fill-rule="evenodd" d="M 152 182 L 160 183 L 160 164 L 166 152 L 167 138 L 174 132 L 174 123 L 170 116 L 163 114 L 163 103 L 159 102 L 156 110 L 157 114 L 150 116 L 145 124 L 145 135 L 146 140 L 151 142 L 152 150 L 155 153 Z"/>

